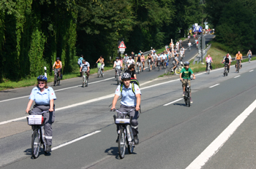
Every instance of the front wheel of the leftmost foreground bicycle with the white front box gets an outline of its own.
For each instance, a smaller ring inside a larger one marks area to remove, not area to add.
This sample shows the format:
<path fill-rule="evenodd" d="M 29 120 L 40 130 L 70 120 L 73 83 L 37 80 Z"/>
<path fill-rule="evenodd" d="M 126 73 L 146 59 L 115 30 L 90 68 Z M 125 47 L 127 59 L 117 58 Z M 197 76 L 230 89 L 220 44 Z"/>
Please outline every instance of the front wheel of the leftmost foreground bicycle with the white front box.
<path fill-rule="evenodd" d="M 32 157 L 35 159 L 39 156 L 39 149 L 40 149 L 40 130 L 38 128 L 34 129 L 32 134 L 32 141 L 31 141 L 31 153 Z"/>

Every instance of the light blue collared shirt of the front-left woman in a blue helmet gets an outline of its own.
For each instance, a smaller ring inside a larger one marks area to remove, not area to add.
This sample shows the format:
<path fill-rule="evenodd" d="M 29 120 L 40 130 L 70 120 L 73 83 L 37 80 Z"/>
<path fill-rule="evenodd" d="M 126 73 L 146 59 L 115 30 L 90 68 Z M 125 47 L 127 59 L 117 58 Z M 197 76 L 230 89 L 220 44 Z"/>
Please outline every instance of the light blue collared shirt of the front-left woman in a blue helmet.
<path fill-rule="evenodd" d="M 39 87 L 34 87 L 31 91 L 29 99 L 33 100 L 38 105 L 50 105 L 50 100 L 56 100 L 56 95 L 52 87 L 48 87 L 42 93 Z"/>

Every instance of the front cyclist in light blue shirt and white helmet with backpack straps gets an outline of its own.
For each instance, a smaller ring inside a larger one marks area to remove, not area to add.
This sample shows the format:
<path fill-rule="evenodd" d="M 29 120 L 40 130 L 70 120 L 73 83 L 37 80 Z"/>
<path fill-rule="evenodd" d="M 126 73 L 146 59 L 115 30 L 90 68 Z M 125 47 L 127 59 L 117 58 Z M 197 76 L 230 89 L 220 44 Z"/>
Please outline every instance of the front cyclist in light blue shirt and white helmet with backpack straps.
<path fill-rule="evenodd" d="M 132 133 L 134 135 L 134 141 L 135 144 L 139 144 L 139 139 L 138 139 L 138 118 L 139 118 L 139 110 L 140 110 L 140 88 L 138 87 L 137 84 L 131 84 L 131 75 L 128 73 L 124 73 L 121 76 L 121 80 L 124 84 L 118 85 L 116 88 L 116 93 L 112 101 L 112 108 L 116 109 L 116 102 L 121 95 L 121 106 L 118 111 L 121 112 L 127 112 L 130 111 L 131 109 L 135 109 L 134 111 L 131 111 L 129 113 L 129 116 L 132 116 Z M 119 132 L 119 126 L 116 125 L 117 127 L 117 133 Z M 118 133 L 119 136 L 119 133 Z M 118 142 L 118 137 L 116 142 Z"/>

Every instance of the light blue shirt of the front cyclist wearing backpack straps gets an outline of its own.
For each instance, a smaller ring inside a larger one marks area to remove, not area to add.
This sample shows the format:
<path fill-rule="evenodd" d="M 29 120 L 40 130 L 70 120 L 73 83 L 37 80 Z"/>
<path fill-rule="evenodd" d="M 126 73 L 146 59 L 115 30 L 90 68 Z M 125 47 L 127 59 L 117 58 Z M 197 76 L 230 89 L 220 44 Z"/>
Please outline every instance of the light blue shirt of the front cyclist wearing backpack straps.
<path fill-rule="evenodd" d="M 140 88 L 138 87 L 137 84 L 135 84 L 135 94 L 132 92 L 132 84 L 129 84 L 129 88 L 127 89 L 124 85 L 123 85 L 123 89 L 122 89 L 122 93 L 120 91 L 120 87 L 121 85 L 118 85 L 118 87 L 116 88 L 116 95 L 123 95 L 123 97 L 121 98 L 121 104 L 124 106 L 136 106 L 137 104 L 137 98 L 135 95 L 140 94 Z"/>

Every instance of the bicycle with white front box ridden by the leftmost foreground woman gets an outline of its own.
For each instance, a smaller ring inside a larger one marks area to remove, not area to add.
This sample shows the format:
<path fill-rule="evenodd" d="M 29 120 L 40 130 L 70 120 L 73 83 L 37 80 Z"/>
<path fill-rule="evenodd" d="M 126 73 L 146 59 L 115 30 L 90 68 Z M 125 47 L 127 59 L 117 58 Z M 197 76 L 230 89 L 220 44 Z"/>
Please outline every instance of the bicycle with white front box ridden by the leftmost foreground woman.
<path fill-rule="evenodd" d="M 45 127 L 43 114 L 49 113 L 49 111 L 42 111 L 41 113 L 35 113 L 29 111 L 29 117 L 26 117 L 28 125 L 31 125 L 33 133 L 31 135 L 31 153 L 32 157 L 36 159 L 39 156 L 40 146 L 43 145 L 45 154 L 46 152 L 46 141 L 45 141 Z M 31 115 L 33 114 L 33 115 Z"/>

